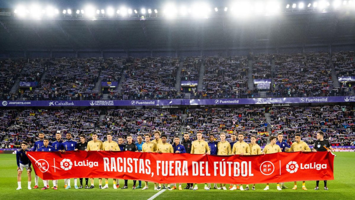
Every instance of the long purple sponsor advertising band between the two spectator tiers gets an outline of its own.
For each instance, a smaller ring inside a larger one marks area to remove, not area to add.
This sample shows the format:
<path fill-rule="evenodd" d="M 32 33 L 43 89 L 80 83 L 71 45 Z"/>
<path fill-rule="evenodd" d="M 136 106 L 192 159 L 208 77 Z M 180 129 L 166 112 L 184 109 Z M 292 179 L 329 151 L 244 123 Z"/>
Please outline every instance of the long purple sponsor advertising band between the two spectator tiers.
<path fill-rule="evenodd" d="M 171 106 L 171 105 L 246 105 L 355 102 L 355 96 L 319 96 L 250 99 L 163 99 L 163 100 L 83 100 L 83 101 L 1 101 L 0 107 L 12 106 Z"/>

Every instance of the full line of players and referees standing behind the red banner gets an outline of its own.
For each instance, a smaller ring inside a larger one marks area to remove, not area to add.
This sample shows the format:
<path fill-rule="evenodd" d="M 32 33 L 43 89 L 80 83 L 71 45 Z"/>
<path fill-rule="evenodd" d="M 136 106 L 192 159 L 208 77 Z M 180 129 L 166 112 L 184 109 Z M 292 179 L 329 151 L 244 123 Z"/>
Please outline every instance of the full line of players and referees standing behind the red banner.
<path fill-rule="evenodd" d="M 157 152 L 157 153 L 191 153 L 191 154 L 211 154 L 211 155 L 258 155 L 258 154 L 271 154 L 278 152 L 310 152 L 311 149 L 308 145 L 301 141 L 300 134 L 295 135 L 295 142 L 290 146 L 286 142 L 283 141 L 283 134 L 279 133 L 277 137 L 271 136 L 269 138 L 270 144 L 267 144 L 263 151 L 261 151 L 260 146 L 256 143 L 257 137 L 251 136 L 251 143 L 244 142 L 244 134 L 243 133 L 233 133 L 231 134 L 231 142 L 227 142 L 226 134 L 220 133 L 220 142 L 215 141 L 214 134 L 209 134 L 208 141 L 204 141 L 202 139 L 202 132 L 196 132 L 196 141 L 190 140 L 190 134 L 188 132 L 184 133 L 184 140 L 180 142 L 180 138 L 176 136 L 174 138 L 174 144 L 171 145 L 166 142 L 168 138 L 165 134 L 161 135 L 159 131 L 154 132 L 154 140 L 151 141 L 151 136 L 149 134 L 144 135 L 145 142 L 143 142 L 142 136 L 137 136 L 137 142 L 133 143 L 133 138 L 131 135 L 127 136 L 127 143 L 123 143 L 123 138 L 118 138 L 118 143 L 112 140 L 112 135 L 110 133 L 107 134 L 107 141 L 102 142 L 97 139 L 97 133 L 92 134 L 92 141 L 86 142 L 85 136 L 80 135 L 80 142 L 76 142 L 72 140 L 71 133 L 66 134 L 66 140 L 61 140 L 60 131 L 56 133 L 56 141 L 51 143 L 47 138 L 44 138 L 44 133 L 39 133 L 39 140 L 35 142 L 35 145 L 32 151 L 135 151 L 135 152 Z M 314 144 L 313 151 L 332 151 L 332 147 L 327 140 L 323 139 L 324 133 L 317 133 L 317 141 Z M 43 145 L 42 145 L 43 144 Z M 328 147 L 328 150 L 324 148 L 324 146 Z M 21 188 L 21 174 L 22 170 L 25 168 L 28 174 L 28 189 L 31 189 L 31 161 L 27 158 L 26 152 L 31 151 L 31 149 L 27 148 L 27 143 L 21 143 L 21 149 L 18 149 L 16 152 L 17 158 L 17 183 L 18 188 Z M 88 178 L 85 178 L 85 186 L 86 189 L 94 188 L 94 179 L 91 178 L 91 186 L 88 186 Z M 128 180 L 124 180 L 124 186 L 121 189 L 127 189 Z M 49 180 L 43 180 L 44 187 L 42 190 L 49 188 Z M 319 181 L 316 181 L 316 188 L 318 190 Z M 77 186 L 77 179 L 74 179 L 75 189 L 83 188 L 83 179 L 80 178 L 80 186 Z M 33 189 L 38 188 L 38 176 L 35 175 L 35 186 Z M 58 189 L 58 180 L 53 180 L 53 189 Z M 64 188 L 70 189 L 70 179 L 64 180 Z M 99 179 L 99 188 L 106 189 L 108 188 L 108 179 L 105 179 L 105 185 L 102 187 L 102 179 Z M 113 188 L 119 188 L 119 180 L 113 179 Z M 136 187 L 136 180 L 133 180 L 132 189 L 142 188 L 141 181 L 138 181 L 138 186 Z M 179 190 L 182 190 L 181 183 L 179 184 Z M 277 190 L 282 190 L 282 188 L 287 188 L 284 183 L 277 183 Z M 142 190 L 148 189 L 148 182 L 145 182 Z M 170 184 L 157 184 L 154 183 L 154 190 L 168 189 L 174 190 L 176 188 L 176 184 L 172 188 L 170 188 Z M 197 184 L 193 186 L 193 183 L 187 183 L 187 186 L 184 189 L 189 190 L 198 190 Z M 211 189 L 211 184 L 204 184 L 204 189 Z M 218 187 L 217 184 L 214 184 L 214 189 L 223 189 L 227 190 L 226 184 L 220 184 Z M 246 188 L 243 188 L 243 185 L 230 184 L 229 190 L 249 190 L 249 185 L 246 185 Z M 255 184 L 252 185 L 252 190 L 255 190 Z M 297 189 L 297 183 L 294 182 L 293 190 Z M 302 182 L 302 189 L 307 190 L 305 186 L 305 181 Z M 266 184 L 264 190 L 269 190 L 269 184 Z M 324 180 L 324 190 L 328 190 L 327 181 Z"/>

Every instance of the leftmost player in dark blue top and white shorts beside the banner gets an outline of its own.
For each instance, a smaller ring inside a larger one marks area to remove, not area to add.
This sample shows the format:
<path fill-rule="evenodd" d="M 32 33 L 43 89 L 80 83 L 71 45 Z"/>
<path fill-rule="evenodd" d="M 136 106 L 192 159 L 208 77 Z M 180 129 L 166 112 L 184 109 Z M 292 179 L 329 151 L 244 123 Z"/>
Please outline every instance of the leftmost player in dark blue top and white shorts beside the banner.
<path fill-rule="evenodd" d="M 28 176 L 28 186 L 27 189 L 31 190 L 31 160 L 28 159 L 26 152 L 31 151 L 31 149 L 27 148 L 27 142 L 21 142 L 21 149 L 17 149 L 16 151 L 16 161 L 17 161 L 17 185 L 18 188 L 16 190 L 21 190 L 21 175 L 23 168 L 27 170 Z"/>

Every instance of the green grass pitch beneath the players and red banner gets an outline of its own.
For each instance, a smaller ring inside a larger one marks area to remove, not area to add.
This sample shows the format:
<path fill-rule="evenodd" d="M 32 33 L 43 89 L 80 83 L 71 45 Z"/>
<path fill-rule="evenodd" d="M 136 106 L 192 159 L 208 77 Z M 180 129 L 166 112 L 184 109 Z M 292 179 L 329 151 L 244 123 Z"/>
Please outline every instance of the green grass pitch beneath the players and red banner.
<path fill-rule="evenodd" d="M 256 190 L 252 191 L 224 191 L 211 189 L 209 191 L 203 190 L 204 185 L 199 184 L 197 191 L 192 190 L 166 190 L 160 194 L 156 199 L 232 199 L 232 198 L 246 198 L 246 199 L 354 199 L 355 195 L 355 153 L 354 152 L 336 152 L 337 157 L 334 159 L 334 180 L 328 181 L 328 191 L 323 188 L 323 181 L 320 181 L 319 190 L 314 190 L 316 182 L 306 181 L 307 191 L 301 189 L 302 183 L 297 182 L 298 189 L 292 190 L 293 182 L 286 183 L 289 189 L 282 191 L 276 190 L 276 184 L 270 184 L 270 190 L 264 191 L 265 184 L 257 184 Z M 17 188 L 17 172 L 16 172 L 16 157 L 14 154 L 0 154 L 0 194 L 1 199 L 149 199 L 158 191 L 154 191 L 154 186 L 149 183 L 148 190 L 136 189 L 132 190 L 133 182 L 130 180 L 129 188 L 122 190 L 114 190 L 112 188 L 112 179 L 109 179 L 109 189 L 99 190 L 98 179 L 95 179 L 94 189 L 74 189 L 74 181 L 71 179 L 70 190 L 63 188 L 64 181 L 59 180 L 59 189 L 27 190 L 27 174 L 22 173 L 22 190 Z M 85 180 L 83 180 L 85 181 Z M 120 187 L 123 186 L 124 180 L 120 179 Z M 79 180 L 78 180 L 79 183 Z M 90 184 L 90 183 L 89 183 Z M 138 181 L 137 181 L 138 185 Z M 144 186 L 144 182 L 142 183 Z M 32 172 L 32 187 L 34 186 L 34 172 Z M 52 186 L 52 181 L 49 181 L 49 186 Z M 182 184 L 183 187 L 186 184 Z M 213 184 L 212 184 L 213 186 Z M 43 187 L 43 181 L 39 179 L 39 188 Z M 228 186 L 227 186 L 228 187 Z M 245 185 L 244 185 L 245 187 Z"/>

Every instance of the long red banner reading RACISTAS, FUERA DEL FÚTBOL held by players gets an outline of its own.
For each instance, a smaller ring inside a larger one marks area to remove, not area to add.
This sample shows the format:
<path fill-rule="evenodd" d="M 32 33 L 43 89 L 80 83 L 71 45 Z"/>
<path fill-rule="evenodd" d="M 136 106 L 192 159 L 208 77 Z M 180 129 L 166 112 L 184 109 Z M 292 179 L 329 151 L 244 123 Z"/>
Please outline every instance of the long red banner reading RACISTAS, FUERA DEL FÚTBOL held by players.
<path fill-rule="evenodd" d="M 119 178 L 155 183 L 277 183 L 333 180 L 328 152 L 210 156 L 130 151 L 28 152 L 42 179 Z"/>

